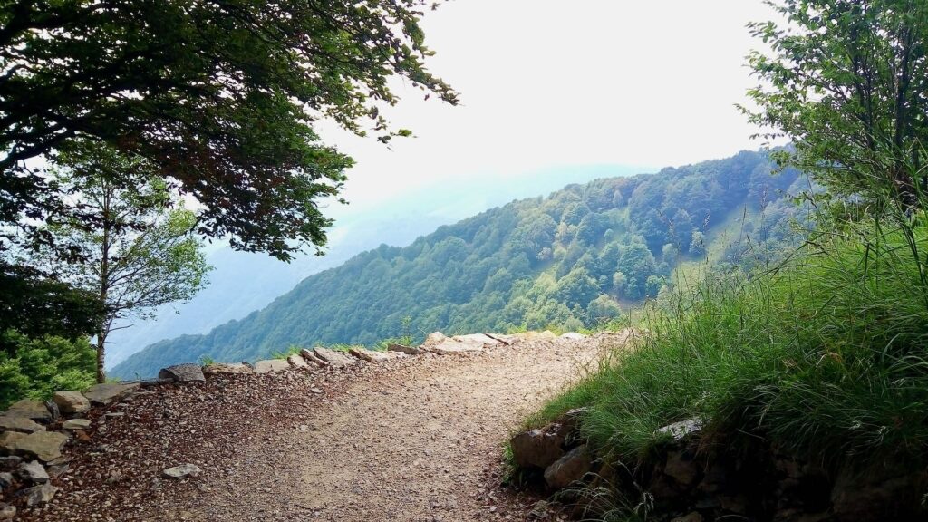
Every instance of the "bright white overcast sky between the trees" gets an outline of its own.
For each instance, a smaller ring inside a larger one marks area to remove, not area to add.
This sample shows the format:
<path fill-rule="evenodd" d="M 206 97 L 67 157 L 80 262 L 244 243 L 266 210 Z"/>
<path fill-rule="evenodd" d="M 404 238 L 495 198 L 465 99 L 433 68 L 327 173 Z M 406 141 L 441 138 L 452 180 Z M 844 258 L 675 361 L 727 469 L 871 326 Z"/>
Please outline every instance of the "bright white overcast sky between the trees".
<path fill-rule="evenodd" d="M 387 113 L 415 138 L 388 149 L 321 134 L 357 160 L 344 194 L 354 210 L 445 179 L 757 149 L 734 104 L 755 85 L 744 57 L 759 43 L 745 24 L 770 17 L 761 0 L 452 0 L 424 27 L 432 72 L 461 104 L 401 85 Z"/>

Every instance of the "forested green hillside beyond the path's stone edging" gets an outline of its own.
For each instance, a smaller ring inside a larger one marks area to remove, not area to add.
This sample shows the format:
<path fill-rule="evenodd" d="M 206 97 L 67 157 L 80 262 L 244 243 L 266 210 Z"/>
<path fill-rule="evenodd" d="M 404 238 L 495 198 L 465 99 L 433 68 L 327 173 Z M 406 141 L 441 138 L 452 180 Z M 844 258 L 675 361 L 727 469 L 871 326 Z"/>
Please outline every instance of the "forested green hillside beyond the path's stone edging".
<path fill-rule="evenodd" d="M 786 240 L 797 210 L 784 195 L 806 179 L 772 170 L 765 153 L 745 151 L 510 202 L 405 248 L 359 254 L 244 320 L 148 346 L 112 373 L 148 376 L 201 357 L 255 359 L 292 345 L 435 330 L 596 326 L 671 287 L 684 261 L 709 253 L 730 261 L 744 238 Z"/>

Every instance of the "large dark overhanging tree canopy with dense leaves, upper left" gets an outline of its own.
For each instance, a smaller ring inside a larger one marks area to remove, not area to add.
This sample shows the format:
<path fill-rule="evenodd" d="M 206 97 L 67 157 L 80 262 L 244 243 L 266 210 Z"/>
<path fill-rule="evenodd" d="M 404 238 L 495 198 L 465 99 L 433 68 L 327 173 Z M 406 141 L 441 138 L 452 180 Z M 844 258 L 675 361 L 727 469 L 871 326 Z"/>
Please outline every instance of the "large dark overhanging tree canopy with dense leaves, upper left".
<path fill-rule="evenodd" d="M 382 141 L 408 136 L 380 116 L 398 101 L 393 77 L 457 102 L 425 68 L 425 6 L 4 2 L 0 229 L 49 239 L 32 223 L 57 214 L 67 193 L 26 160 L 77 137 L 141 156 L 176 180 L 202 205 L 201 234 L 282 259 L 324 244 L 330 220 L 319 199 L 338 194 L 352 161 L 320 143 L 313 122 L 328 117 L 358 134 L 369 127 Z"/>

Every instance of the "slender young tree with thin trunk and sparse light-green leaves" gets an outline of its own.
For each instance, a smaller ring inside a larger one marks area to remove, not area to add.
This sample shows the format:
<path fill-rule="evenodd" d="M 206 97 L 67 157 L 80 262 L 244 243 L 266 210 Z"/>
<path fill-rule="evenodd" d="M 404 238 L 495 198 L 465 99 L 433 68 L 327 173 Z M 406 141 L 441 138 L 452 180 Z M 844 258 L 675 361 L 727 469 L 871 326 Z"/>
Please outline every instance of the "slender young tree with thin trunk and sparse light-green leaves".
<path fill-rule="evenodd" d="M 196 217 L 172 210 L 170 190 L 150 163 L 95 143 L 61 160 L 68 169 L 55 181 L 76 202 L 41 228 L 55 238 L 54 247 L 45 245 L 31 261 L 56 269 L 63 281 L 104 303 L 106 314 L 94 331 L 103 382 L 106 339 L 115 323 L 146 319 L 157 307 L 191 298 L 206 283 L 209 267 L 191 232 Z"/>

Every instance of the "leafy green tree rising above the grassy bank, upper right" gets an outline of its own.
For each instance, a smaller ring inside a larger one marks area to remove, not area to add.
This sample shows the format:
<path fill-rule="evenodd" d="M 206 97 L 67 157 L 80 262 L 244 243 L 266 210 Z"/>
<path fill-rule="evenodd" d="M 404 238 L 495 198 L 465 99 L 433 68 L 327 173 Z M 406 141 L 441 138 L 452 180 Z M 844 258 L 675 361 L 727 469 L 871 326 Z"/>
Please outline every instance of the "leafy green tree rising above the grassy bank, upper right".
<path fill-rule="evenodd" d="M 781 159 L 835 194 L 913 204 L 928 188 L 928 3 L 768 3 L 785 21 L 751 25 L 773 54 L 750 56 L 765 82 L 750 120 L 793 140 Z"/>

